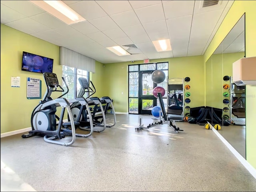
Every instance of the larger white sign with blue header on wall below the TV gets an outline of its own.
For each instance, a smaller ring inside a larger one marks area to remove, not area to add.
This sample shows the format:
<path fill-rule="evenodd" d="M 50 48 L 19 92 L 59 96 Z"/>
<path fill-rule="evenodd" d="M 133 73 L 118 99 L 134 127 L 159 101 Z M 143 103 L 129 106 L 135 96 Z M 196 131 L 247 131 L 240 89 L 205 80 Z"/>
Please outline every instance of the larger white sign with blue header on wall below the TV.
<path fill-rule="evenodd" d="M 41 99 L 41 80 L 36 78 L 27 78 L 27 99 Z"/>

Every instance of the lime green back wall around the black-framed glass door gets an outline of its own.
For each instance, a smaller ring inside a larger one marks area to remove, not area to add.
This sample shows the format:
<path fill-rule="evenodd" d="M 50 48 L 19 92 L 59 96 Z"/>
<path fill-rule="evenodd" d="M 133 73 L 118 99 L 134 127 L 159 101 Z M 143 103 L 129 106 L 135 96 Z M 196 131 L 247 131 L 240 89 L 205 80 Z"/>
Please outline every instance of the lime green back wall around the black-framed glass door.
<path fill-rule="evenodd" d="M 150 62 L 168 62 L 168 78 L 190 77 L 191 86 L 188 106 L 204 106 L 205 81 L 203 56 L 180 57 L 150 60 Z M 128 65 L 143 64 L 143 61 L 105 64 L 104 79 L 106 84 L 104 92 L 114 100 L 116 112 L 128 112 Z M 123 94 L 122 94 L 123 92 Z"/>

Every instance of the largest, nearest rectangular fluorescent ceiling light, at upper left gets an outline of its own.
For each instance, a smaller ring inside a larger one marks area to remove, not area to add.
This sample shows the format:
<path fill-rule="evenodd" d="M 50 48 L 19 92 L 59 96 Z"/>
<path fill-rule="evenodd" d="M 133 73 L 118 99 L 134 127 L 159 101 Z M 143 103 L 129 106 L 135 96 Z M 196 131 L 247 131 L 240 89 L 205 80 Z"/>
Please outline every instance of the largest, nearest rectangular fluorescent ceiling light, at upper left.
<path fill-rule="evenodd" d="M 47 0 L 47 1 L 30 1 L 41 9 L 45 10 L 52 16 L 62 20 L 66 24 L 74 24 L 85 21 L 86 19 L 80 16 L 77 12 L 72 10 L 68 5 L 60 0 Z"/>

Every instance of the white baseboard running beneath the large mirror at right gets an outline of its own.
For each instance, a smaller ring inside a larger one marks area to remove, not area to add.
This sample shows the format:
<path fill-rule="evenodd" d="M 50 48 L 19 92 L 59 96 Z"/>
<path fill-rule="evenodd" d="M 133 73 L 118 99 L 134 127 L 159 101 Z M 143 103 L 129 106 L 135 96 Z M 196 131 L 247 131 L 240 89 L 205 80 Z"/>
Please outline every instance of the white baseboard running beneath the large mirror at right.
<path fill-rule="evenodd" d="M 252 174 L 256 179 L 256 169 L 246 161 L 246 159 L 237 152 L 237 150 L 211 125 L 212 131 L 220 138 L 220 140 L 228 147 L 234 156 L 242 163 L 242 165 Z"/>

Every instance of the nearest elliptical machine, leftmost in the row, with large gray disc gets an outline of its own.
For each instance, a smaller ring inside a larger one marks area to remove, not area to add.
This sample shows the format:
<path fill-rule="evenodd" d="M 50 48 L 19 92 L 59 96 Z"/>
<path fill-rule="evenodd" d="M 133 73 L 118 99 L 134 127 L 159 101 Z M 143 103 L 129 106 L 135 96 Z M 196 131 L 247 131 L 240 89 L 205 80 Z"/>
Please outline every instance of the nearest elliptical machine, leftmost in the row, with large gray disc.
<path fill-rule="evenodd" d="M 59 144 L 63 146 L 70 146 L 76 140 L 76 128 L 75 124 L 78 125 L 78 122 L 74 122 L 72 118 L 72 113 L 70 110 L 70 103 L 66 98 L 61 98 L 66 93 L 62 94 L 56 99 L 51 98 L 52 92 L 64 92 L 64 89 L 60 86 L 56 74 L 50 72 L 44 72 L 44 80 L 46 82 L 47 90 L 44 94 L 43 99 L 39 102 L 38 106 L 34 108 L 31 115 L 31 127 L 32 130 L 28 134 L 23 134 L 22 138 L 28 138 L 31 136 L 44 136 L 44 141 L 52 144 Z M 62 80 L 64 78 L 62 77 Z M 65 80 L 64 80 L 65 81 Z M 60 90 L 57 90 L 60 88 Z M 59 124 L 56 123 L 56 111 L 57 107 L 61 106 L 61 115 L 59 119 Z M 68 111 L 68 115 L 71 117 L 69 122 L 71 130 L 66 132 L 62 130 L 63 117 L 65 109 Z M 58 129 L 56 130 L 56 126 Z M 69 142 L 61 142 L 60 140 L 65 136 L 72 136 L 72 139 Z"/>

